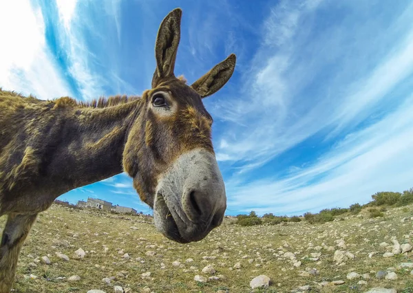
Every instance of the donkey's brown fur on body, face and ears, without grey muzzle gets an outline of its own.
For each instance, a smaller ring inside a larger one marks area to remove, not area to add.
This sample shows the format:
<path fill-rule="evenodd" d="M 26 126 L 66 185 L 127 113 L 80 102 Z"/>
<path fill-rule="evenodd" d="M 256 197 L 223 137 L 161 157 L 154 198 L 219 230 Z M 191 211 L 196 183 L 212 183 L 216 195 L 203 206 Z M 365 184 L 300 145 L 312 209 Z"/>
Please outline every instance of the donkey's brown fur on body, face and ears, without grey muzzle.
<path fill-rule="evenodd" d="M 0 88 L 0 216 L 8 215 L 0 243 L 0 293 L 10 292 L 36 215 L 59 195 L 126 171 L 152 207 L 158 177 L 180 154 L 199 148 L 213 153 L 212 118 L 201 98 L 229 80 L 235 55 L 232 63 L 227 58 L 217 65 L 221 71 L 214 67 L 194 83 L 202 94 L 176 78 L 181 13 L 173 10 L 160 25 L 153 88 L 142 98 L 38 100 Z M 169 93 L 173 114 L 162 109 L 162 116 L 153 108 L 158 91 Z"/>

